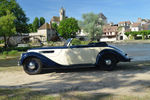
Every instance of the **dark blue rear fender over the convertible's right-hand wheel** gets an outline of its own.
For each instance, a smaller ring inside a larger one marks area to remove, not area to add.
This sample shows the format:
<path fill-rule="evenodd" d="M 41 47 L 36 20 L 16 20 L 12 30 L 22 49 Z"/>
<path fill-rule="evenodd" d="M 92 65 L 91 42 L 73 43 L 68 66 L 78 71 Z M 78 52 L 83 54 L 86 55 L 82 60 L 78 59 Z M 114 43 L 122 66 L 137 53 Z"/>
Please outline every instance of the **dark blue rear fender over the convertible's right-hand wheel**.
<path fill-rule="evenodd" d="M 113 54 L 116 57 L 116 59 L 118 60 L 118 62 L 129 62 L 130 61 L 130 58 L 128 58 L 126 54 L 122 54 L 113 49 L 104 49 L 97 55 L 96 64 L 98 64 L 98 62 L 102 59 L 103 55 L 107 55 L 107 54 Z"/>

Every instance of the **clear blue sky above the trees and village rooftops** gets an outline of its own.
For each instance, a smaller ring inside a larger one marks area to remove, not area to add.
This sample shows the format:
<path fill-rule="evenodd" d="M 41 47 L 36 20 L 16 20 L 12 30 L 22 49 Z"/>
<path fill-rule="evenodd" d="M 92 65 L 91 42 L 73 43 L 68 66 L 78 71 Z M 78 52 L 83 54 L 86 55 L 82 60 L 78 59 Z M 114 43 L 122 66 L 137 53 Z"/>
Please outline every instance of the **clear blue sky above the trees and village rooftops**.
<path fill-rule="evenodd" d="M 59 16 L 59 9 L 66 9 L 66 16 L 82 20 L 82 14 L 102 12 L 108 22 L 150 19 L 150 0 L 16 0 L 25 11 L 30 23 L 35 17 L 44 17 L 49 22 Z"/>

